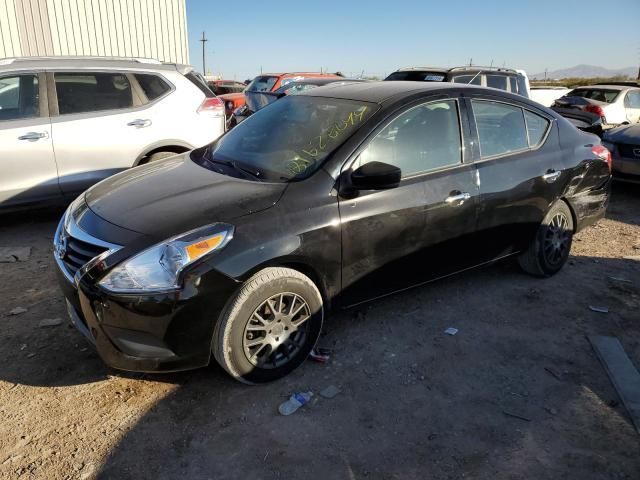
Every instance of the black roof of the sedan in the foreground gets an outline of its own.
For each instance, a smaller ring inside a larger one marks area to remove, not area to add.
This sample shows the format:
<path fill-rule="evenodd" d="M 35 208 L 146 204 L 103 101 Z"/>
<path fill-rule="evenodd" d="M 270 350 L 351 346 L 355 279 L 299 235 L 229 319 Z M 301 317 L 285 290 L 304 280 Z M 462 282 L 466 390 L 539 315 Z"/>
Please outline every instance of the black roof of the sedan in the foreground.
<path fill-rule="evenodd" d="M 464 85 L 459 83 L 452 84 L 449 82 L 352 82 L 347 84 L 325 85 L 322 88 L 306 90 L 298 95 L 383 103 L 393 97 L 409 96 L 420 91 L 452 90 L 460 88 L 473 89 L 474 87 L 475 89 L 478 88 L 475 85 Z M 494 91 L 495 89 L 491 90 Z M 495 90 L 494 93 L 498 92 L 501 91 Z M 509 97 L 511 97 L 511 95 L 509 95 Z"/>

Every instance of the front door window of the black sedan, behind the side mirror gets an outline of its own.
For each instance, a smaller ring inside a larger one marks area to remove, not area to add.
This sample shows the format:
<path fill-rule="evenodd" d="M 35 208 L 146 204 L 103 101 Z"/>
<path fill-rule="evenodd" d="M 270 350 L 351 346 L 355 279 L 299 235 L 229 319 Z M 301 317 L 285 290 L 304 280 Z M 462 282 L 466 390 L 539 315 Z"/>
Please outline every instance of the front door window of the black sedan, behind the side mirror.
<path fill-rule="evenodd" d="M 354 168 L 390 163 L 402 177 L 462 162 L 458 106 L 455 100 L 431 102 L 407 110 L 387 125 L 360 154 Z"/>

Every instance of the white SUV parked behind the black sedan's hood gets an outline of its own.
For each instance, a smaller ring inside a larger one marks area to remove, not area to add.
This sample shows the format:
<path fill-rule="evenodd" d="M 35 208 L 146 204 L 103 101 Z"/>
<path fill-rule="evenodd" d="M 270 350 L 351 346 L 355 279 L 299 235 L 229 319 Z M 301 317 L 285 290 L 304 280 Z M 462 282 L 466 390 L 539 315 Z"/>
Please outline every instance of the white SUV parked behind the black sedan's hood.
<path fill-rule="evenodd" d="M 0 209 L 71 199 L 118 171 L 212 142 L 224 103 L 186 65 L 0 59 Z"/>

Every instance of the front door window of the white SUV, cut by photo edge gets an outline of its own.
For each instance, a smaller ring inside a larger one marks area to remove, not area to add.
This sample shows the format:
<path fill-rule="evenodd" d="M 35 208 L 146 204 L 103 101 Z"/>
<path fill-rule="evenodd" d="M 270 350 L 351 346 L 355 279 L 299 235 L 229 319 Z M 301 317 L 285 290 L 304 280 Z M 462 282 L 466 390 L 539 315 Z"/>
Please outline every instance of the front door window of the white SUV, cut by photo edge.
<path fill-rule="evenodd" d="M 32 118 L 39 114 L 37 75 L 0 78 L 0 121 Z"/>

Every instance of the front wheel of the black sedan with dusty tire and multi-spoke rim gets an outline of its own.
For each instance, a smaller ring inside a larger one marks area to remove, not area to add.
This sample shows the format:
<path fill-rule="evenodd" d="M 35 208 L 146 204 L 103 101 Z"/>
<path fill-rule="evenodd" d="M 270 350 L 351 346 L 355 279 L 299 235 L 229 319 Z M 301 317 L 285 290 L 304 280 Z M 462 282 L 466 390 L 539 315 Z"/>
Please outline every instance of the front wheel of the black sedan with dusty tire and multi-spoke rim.
<path fill-rule="evenodd" d="M 307 276 L 290 268 L 265 268 L 227 303 L 216 323 L 211 350 L 236 380 L 271 382 L 305 361 L 323 318 L 322 295 Z"/>

